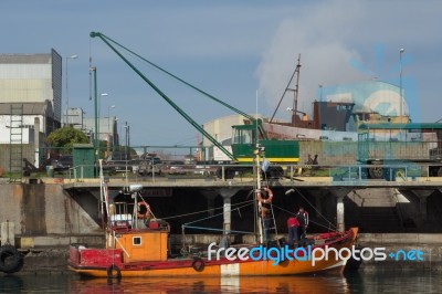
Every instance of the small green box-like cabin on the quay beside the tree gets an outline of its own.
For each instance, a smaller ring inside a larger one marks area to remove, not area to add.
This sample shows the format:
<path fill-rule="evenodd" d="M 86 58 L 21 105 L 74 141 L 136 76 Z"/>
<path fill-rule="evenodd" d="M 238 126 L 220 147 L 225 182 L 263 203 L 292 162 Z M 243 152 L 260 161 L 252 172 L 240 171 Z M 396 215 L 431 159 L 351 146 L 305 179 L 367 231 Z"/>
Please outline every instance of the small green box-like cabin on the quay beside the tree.
<path fill-rule="evenodd" d="M 95 156 L 92 144 L 74 144 L 72 150 L 75 178 L 95 178 Z"/>

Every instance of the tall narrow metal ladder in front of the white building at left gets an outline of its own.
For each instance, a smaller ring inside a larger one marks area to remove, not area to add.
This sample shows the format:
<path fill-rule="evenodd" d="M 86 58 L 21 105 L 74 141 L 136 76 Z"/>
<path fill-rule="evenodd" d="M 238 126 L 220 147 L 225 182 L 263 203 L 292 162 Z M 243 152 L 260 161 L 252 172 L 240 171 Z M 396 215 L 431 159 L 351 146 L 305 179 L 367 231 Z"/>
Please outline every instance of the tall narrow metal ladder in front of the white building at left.
<path fill-rule="evenodd" d="M 23 178 L 23 104 L 11 104 L 9 130 L 9 182 L 21 182 Z"/>

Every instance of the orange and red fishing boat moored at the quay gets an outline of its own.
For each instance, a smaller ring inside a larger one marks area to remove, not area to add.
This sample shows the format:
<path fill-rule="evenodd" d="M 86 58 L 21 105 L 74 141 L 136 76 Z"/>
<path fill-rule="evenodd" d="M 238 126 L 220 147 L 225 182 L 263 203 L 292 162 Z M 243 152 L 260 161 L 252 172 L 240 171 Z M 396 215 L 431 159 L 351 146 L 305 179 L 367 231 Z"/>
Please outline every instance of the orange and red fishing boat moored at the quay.
<path fill-rule="evenodd" d="M 255 150 L 253 202 L 256 220 L 272 203 L 273 193 L 262 183 L 265 159 L 263 150 Z M 102 176 L 103 179 L 103 176 Z M 143 186 L 131 185 L 131 202 L 109 202 L 107 186 L 102 180 L 103 216 L 106 244 L 104 248 L 70 245 L 69 266 L 72 271 L 93 277 L 179 277 L 179 276 L 275 276 L 308 273 L 341 273 L 351 255 L 358 229 L 345 232 L 309 234 L 297 246 L 266 242 L 265 220 L 260 225 L 254 243 L 211 243 L 207 250 L 192 251 L 183 244 L 181 254 L 170 254 L 170 225 L 155 218 L 152 209 L 140 195 Z M 271 206 L 270 206 L 271 207 Z M 154 209 L 155 210 L 155 209 Z M 232 233 L 232 231 L 230 231 Z M 221 239 L 224 240 L 224 239 Z M 308 242 L 306 242 L 308 241 Z"/>

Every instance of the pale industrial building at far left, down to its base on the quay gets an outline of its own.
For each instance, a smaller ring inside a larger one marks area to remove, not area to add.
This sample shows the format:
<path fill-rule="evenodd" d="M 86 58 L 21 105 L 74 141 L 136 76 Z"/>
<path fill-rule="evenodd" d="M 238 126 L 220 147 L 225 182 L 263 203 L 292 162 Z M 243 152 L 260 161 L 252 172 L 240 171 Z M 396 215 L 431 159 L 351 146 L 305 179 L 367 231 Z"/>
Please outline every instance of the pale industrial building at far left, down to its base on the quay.
<path fill-rule="evenodd" d="M 0 54 L 0 167 L 40 166 L 40 144 L 61 126 L 62 56 Z M 7 168 L 9 167 L 9 168 Z"/>

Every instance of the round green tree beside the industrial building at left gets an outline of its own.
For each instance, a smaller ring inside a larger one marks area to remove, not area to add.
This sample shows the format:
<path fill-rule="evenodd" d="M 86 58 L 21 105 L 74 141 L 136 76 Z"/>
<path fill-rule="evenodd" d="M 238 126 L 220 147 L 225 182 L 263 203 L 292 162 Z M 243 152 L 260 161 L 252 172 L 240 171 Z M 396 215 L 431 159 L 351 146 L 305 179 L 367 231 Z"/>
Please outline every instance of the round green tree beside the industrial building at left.
<path fill-rule="evenodd" d="M 88 143 L 90 139 L 87 136 L 71 126 L 65 126 L 59 129 L 55 129 L 45 139 L 45 143 L 51 147 L 60 148 L 62 153 L 70 153 L 74 147 L 74 144 L 84 144 Z"/>

